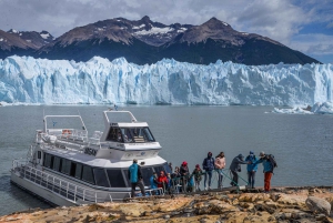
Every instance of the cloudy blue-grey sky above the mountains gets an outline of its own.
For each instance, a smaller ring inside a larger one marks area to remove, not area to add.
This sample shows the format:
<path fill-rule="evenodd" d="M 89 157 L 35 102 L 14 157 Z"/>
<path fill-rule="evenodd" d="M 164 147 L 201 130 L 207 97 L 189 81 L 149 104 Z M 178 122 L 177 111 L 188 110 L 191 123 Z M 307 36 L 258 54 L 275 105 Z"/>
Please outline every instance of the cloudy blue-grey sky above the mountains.
<path fill-rule="evenodd" d="M 0 29 L 53 37 L 99 20 L 149 16 L 164 24 L 210 18 L 333 63 L 333 0 L 0 0 Z"/>

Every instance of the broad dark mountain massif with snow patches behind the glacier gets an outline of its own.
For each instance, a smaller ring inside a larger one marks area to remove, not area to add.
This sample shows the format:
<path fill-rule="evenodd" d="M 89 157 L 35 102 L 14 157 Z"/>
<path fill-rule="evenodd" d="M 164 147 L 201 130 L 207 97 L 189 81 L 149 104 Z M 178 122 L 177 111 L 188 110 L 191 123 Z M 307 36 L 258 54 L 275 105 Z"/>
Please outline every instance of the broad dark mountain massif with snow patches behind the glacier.
<path fill-rule="evenodd" d="M 23 33 L 19 37 L 30 40 Z M 49 41 L 33 41 L 37 50 L 27 51 L 27 55 L 75 61 L 88 61 L 94 55 L 109 60 L 124 57 L 138 64 L 154 63 L 163 58 L 199 64 L 216 60 L 248 65 L 319 63 L 270 38 L 235 31 L 216 18 L 200 26 L 165 26 L 149 17 L 138 21 L 115 18 L 74 28 Z"/>

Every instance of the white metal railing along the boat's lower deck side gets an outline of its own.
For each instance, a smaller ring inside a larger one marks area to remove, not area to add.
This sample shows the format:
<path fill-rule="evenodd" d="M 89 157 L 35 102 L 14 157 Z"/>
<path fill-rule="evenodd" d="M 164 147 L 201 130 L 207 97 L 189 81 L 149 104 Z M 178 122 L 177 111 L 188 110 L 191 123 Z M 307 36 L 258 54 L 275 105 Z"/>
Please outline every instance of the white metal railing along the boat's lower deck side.
<path fill-rule="evenodd" d="M 28 161 L 23 159 L 13 160 L 12 170 L 19 173 L 20 178 L 24 178 L 28 181 L 36 183 L 53 193 L 59 194 L 73 203 L 102 203 L 112 202 L 117 200 L 123 200 L 125 196 L 131 196 L 131 192 L 101 192 L 95 190 L 89 190 L 77 185 L 73 182 L 69 182 L 57 178 L 52 174 L 46 173 L 43 170 L 38 170 L 33 166 L 27 165 Z"/>

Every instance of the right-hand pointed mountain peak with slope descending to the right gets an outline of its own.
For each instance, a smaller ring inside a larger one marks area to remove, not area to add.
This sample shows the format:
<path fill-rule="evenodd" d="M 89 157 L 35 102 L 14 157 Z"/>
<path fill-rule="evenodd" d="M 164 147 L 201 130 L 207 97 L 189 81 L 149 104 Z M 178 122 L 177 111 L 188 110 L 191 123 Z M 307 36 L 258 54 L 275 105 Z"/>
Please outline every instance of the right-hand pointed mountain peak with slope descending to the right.
<path fill-rule="evenodd" d="M 173 41 L 162 45 L 164 58 L 209 64 L 219 59 L 249 65 L 284 63 L 319 63 L 299 51 L 272 39 L 238 32 L 215 18 L 192 27 Z"/>

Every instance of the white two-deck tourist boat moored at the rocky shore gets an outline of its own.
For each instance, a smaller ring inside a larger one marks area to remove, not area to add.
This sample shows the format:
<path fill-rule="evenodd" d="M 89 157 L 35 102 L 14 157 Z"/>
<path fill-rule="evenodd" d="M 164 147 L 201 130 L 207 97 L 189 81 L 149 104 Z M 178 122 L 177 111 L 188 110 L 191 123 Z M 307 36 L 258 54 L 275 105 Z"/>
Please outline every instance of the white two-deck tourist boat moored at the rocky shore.
<path fill-rule="evenodd" d="M 133 159 L 144 185 L 153 172 L 170 172 L 147 122 L 130 111 L 104 111 L 104 132 L 88 136 L 80 115 L 44 115 L 27 159 L 12 162 L 11 182 L 56 205 L 112 202 L 131 195 Z M 63 126 L 59 126 L 63 125 Z M 147 193 L 151 193 L 145 186 Z"/>

